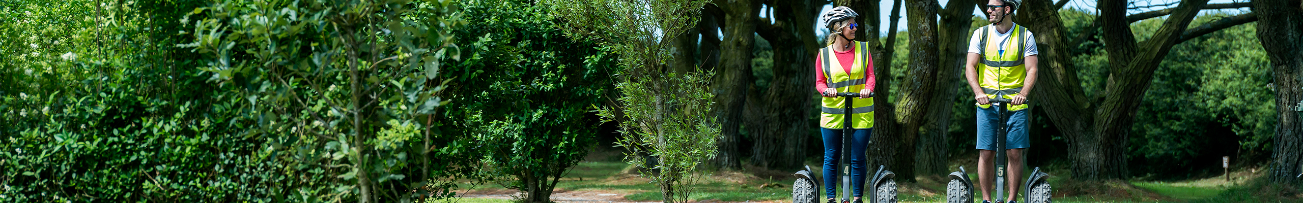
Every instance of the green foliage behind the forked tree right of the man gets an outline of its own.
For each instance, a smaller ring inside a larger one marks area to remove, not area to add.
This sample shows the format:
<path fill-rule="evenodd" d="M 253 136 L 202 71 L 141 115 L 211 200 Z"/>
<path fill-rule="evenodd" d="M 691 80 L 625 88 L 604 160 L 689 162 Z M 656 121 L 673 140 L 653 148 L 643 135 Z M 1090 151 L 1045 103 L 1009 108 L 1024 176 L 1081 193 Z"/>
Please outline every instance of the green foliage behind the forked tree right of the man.
<path fill-rule="evenodd" d="M 1095 18 L 1078 9 L 1059 14 L 1072 38 Z M 1204 14 L 1191 27 L 1227 16 Z M 1136 40 L 1148 39 L 1161 21 L 1132 23 Z M 1252 163 L 1268 152 L 1276 104 L 1269 86 L 1270 66 L 1255 30 L 1253 23 L 1239 25 L 1173 47 L 1154 73 L 1131 128 L 1127 157 L 1136 163 L 1130 164 L 1132 170 L 1184 178 L 1220 168 L 1216 160 L 1221 156 Z M 1072 57 L 1087 96 L 1096 102 L 1108 94 L 1110 74 L 1108 53 L 1098 39 L 1097 33 L 1075 44 L 1084 53 Z"/>

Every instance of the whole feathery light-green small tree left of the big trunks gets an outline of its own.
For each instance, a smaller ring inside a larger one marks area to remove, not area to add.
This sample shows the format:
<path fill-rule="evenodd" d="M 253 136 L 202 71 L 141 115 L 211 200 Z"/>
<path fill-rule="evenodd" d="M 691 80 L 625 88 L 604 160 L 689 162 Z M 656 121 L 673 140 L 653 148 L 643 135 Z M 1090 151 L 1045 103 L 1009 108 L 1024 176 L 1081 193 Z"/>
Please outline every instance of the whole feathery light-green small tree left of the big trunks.
<path fill-rule="evenodd" d="M 543 0 L 562 30 L 572 38 L 597 40 L 620 55 L 618 104 L 598 108 L 606 121 L 619 121 L 618 144 L 625 161 L 661 186 L 666 203 L 687 202 L 697 165 L 715 155 L 719 129 L 708 115 L 714 95 L 710 72 L 667 70 L 672 39 L 697 22 L 704 0 Z M 648 155 L 648 156 L 644 156 Z M 654 159 L 654 160 L 652 160 Z M 676 187 L 678 186 L 678 187 Z M 687 186 L 687 187 L 684 187 Z"/>

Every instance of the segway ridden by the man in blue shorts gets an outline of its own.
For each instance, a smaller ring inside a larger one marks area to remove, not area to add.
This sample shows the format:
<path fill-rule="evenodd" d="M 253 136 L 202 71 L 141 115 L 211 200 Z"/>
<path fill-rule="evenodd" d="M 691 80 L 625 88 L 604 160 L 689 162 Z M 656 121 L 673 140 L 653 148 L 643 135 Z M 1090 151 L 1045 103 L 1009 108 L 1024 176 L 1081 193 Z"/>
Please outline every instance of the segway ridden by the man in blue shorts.
<path fill-rule="evenodd" d="M 1007 112 L 1010 103 L 1012 103 L 1011 99 L 1005 99 L 999 95 L 995 99 L 990 99 L 990 104 L 998 107 L 995 112 L 999 113 L 999 129 L 995 130 L 995 200 L 1005 199 L 1005 168 L 1009 164 L 1007 155 L 1005 155 L 1005 137 L 1009 135 Z M 1050 203 L 1050 183 L 1046 181 L 1048 177 L 1049 174 L 1041 172 L 1040 167 L 1032 169 L 1023 186 L 1023 199 L 1027 203 Z M 946 183 L 946 203 L 972 203 L 973 189 L 973 182 L 968 178 L 968 172 L 963 167 L 959 167 L 959 172 L 950 173 L 950 183 Z"/>

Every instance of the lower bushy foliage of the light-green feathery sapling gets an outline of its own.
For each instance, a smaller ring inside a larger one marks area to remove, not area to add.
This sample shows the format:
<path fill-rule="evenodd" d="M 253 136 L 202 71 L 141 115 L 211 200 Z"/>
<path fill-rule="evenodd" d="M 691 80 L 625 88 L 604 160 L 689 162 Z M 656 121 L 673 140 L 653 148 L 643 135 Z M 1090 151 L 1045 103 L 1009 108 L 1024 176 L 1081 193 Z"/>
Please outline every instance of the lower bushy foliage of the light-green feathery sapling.
<path fill-rule="evenodd" d="M 620 104 L 598 109 L 607 121 L 623 118 L 620 133 L 625 137 L 618 144 L 625 150 L 625 161 L 654 165 L 640 173 L 661 185 L 666 202 L 687 202 L 691 186 L 700 180 L 696 168 L 715 156 L 719 129 L 709 113 L 711 75 L 670 73 L 649 82 L 622 82 L 616 85 L 623 94 L 616 99 Z"/>

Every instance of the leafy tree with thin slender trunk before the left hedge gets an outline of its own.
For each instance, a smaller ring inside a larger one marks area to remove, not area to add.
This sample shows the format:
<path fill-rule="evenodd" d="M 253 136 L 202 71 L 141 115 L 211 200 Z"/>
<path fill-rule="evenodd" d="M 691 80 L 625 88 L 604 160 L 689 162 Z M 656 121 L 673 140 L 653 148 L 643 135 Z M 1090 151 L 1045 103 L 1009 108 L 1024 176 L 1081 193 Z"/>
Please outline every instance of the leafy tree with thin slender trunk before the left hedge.
<path fill-rule="evenodd" d="M 181 20 L 195 17 L 186 33 L 195 40 L 177 47 L 210 57 L 201 70 L 211 82 L 240 87 L 232 94 L 257 118 L 242 134 L 288 151 L 266 155 L 276 168 L 310 177 L 274 190 L 298 191 L 292 199 L 444 198 L 426 185 L 437 146 L 422 137 L 431 131 L 417 129 L 448 103 L 430 78 L 444 59 L 460 59 L 448 31 L 464 22 L 450 4 L 216 1 Z"/>

